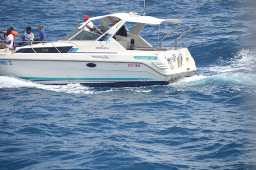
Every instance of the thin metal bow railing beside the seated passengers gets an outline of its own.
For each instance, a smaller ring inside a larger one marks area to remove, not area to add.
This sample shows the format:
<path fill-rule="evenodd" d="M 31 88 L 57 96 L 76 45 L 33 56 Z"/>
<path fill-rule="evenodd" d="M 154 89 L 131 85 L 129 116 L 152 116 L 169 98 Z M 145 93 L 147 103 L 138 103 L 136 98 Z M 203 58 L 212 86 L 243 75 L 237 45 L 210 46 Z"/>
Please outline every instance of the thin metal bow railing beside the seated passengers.
<path fill-rule="evenodd" d="M 0 40 L 0 42 L 3 42 L 3 41 L 5 41 L 5 40 Z M 13 41 L 14 42 L 14 41 Z M 37 52 L 33 49 L 33 48 L 36 48 L 37 46 L 35 46 L 36 44 L 38 44 L 39 42 L 41 42 L 41 41 L 20 41 L 20 40 L 15 40 L 15 42 L 26 42 L 27 43 L 27 45 L 25 45 L 25 46 L 29 46 L 33 51 L 34 51 L 34 53 L 35 54 L 37 54 Z M 29 43 L 30 42 L 30 43 Z M 46 43 L 43 43 L 43 44 L 47 44 L 47 43 L 50 43 L 50 44 L 52 44 L 52 46 L 58 51 L 58 53 L 59 54 L 61 54 L 61 52 L 57 49 L 57 47 L 53 44 L 54 42 L 57 42 L 57 41 L 47 41 Z M 81 46 L 79 46 L 79 45 L 77 45 L 77 44 L 75 44 L 75 43 L 73 43 L 73 42 L 70 42 L 70 41 L 61 41 L 62 43 L 64 42 L 64 43 L 70 43 L 70 44 L 74 44 L 74 45 L 76 45 L 77 47 L 79 47 L 80 49 L 82 49 L 86 54 L 88 54 Z M 32 43 L 32 44 L 31 44 Z M 5 43 L 3 43 L 3 44 L 5 44 Z M 6 46 L 6 44 L 5 44 L 5 46 Z M 14 50 L 11 50 L 9 47 L 7 47 L 6 46 L 6 48 L 5 48 L 5 50 L 3 51 L 3 52 L 6 52 L 6 50 L 7 49 L 9 49 L 10 51 L 11 51 L 11 53 L 12 54 L 14 54 L 15 52 L 14 52 Z M 2 52 L 2 53 L 3 53 Z M 2 54 L 1 53 L 1 54 Z"/>

